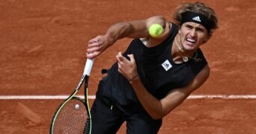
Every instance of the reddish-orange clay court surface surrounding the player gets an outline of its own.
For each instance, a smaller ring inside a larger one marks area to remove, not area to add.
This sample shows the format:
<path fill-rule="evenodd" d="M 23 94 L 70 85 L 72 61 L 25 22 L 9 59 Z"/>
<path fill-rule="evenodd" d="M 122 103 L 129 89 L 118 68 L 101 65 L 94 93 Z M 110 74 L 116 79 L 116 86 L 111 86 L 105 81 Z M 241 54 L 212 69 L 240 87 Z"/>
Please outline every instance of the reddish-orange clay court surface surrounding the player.
<path fill-rule="evenodd" d="M 159 133 L 256 133 L 256 2 L 201 1 L 219 16 L 219 29 L 202 47 L 210 78 L 164 118 Z M 0 1 L 0 133 L 49 133 L 52 115 L 63 101 L 54 98 L 75 89 L 89 39 L 116 22 L 154 15 L 171 21 L 182 2 Z M 91 97 L 103 77 L 101 69 L 112 66 L 130 40 L 116 42 L 95 60 Z M 125 133 L 125 127 L 118 133 Z"/>

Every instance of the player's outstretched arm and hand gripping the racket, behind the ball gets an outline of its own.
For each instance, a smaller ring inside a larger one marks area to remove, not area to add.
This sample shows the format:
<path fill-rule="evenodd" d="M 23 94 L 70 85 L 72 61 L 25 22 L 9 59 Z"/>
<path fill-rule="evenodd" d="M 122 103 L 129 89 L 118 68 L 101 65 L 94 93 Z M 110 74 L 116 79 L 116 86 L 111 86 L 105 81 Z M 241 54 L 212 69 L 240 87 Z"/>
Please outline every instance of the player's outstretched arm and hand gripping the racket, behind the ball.
<path fill-rule="evenodd" d="M 89 59 L 97 57 L 105 51 L 106 48 L 113 45 L 118 39 L 122 39 L 124 37 L 152 38 L 147 30 L 153 23 L 162 25 L 162 28 L 164 29 L 170 28 L 169 23 L 167 23 L 162 16 L 153 16 L 144 20 L 117 23 L 112 25 L 104 35 L 96 36 L 94 39 L 89 40 L 87 57 Z M 163 36 L 168 34 L 165 31 L 162 33 L 162 36 L 159 37 L 159 42 L 167 37 Z"/>

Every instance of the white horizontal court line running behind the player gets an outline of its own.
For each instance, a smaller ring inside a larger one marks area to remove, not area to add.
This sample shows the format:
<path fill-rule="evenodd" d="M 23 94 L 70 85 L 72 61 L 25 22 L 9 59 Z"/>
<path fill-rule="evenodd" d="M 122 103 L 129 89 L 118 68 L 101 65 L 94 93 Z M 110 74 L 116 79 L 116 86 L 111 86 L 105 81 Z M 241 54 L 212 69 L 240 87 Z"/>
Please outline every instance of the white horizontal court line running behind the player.
<path fill-rule="evenodd" d="M 0 100 L 61 100 L 68 95 L 0 95 Z M 77 95 L 85 98 L 83 95 Z M 95 99 L 95 95 L 89 95 L 88 99 Z M 190 95 L 187 99 L 256 99 L 256 95 Z"/>

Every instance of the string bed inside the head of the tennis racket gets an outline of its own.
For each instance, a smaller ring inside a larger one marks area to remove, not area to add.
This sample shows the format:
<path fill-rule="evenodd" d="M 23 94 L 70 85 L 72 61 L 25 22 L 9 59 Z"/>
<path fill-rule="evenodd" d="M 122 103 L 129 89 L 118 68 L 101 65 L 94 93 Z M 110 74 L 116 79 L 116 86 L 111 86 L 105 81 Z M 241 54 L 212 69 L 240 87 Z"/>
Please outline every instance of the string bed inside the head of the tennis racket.
<path fill-rule="evenodd" d="M 85 104 L 82 100 L 69 100 L 55 119 L 54 133 L 84 133 L 88 121 Z"/>

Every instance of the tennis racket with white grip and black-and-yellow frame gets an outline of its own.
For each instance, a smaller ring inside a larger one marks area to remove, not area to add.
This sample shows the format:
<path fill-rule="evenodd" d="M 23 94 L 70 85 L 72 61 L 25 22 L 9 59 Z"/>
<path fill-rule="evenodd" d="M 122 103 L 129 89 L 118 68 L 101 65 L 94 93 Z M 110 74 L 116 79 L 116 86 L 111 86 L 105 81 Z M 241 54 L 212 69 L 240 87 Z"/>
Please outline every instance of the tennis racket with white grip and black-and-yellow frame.
<path fill-rule="evenodd" d="M 91 134 L 91 112 L 88 104 L 88 80 L 94 60 L 86 60 L 85 70 L 73 93 L 58 107 L 52 118 L 50 134 Z M 85 82 L 85 100 L 76 97 Z"/>

